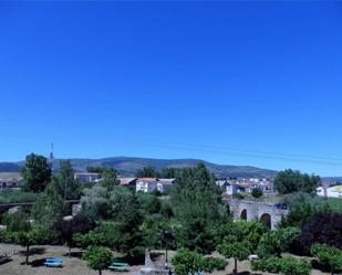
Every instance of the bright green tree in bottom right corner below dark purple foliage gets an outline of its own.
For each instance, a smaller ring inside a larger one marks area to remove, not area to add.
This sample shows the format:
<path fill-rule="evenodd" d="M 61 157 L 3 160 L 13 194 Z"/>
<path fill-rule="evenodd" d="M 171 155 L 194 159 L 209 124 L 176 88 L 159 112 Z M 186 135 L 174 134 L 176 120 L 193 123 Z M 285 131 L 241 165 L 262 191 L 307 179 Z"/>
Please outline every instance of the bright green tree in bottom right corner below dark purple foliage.
<path fill-rule="evenodd" d="M 336 269 L 342 269 L 342 250 L 327 244 L 313 244 L 311 254 L 319 260 L 320 264 L 330 266 L 331 275 L 334 275 Z"/>

